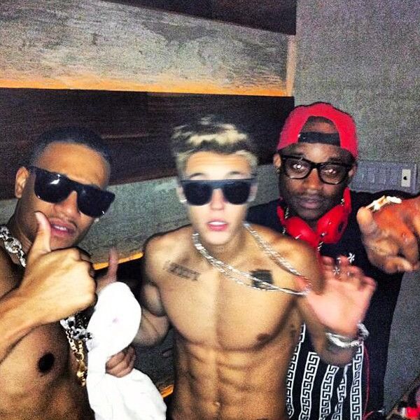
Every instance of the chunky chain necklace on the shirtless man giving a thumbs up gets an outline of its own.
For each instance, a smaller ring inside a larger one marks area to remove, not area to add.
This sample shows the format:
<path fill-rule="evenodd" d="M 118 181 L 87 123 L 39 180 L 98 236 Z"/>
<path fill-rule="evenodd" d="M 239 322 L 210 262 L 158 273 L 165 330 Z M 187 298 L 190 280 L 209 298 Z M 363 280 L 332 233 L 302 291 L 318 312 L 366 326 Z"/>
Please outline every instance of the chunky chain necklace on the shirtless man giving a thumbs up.
<path fill-rule="evenodd" d="M 26 255 L 23 251 L 22 244 L 19 239 L 16 239 L 10 235 L 10 231 L 6 225 L 0 225 L 0 239 L 3 240 L 4 247 L 8 253 L 17 255 L 20 265 L 26 267 Z M 78 370 L 76 376 L 78 377 L 80 384 L 85 386 L 87 377 L 87 365 L 85 363 L 85 342 L 87 339 L 92 338 L 90 332 L 86 330 L 86 319 L 82 314 L 74 314 L 67 318 L 62 319 L 59 323 L 66 332 L 67 340 L 71 351 L 78 362 Z"/>

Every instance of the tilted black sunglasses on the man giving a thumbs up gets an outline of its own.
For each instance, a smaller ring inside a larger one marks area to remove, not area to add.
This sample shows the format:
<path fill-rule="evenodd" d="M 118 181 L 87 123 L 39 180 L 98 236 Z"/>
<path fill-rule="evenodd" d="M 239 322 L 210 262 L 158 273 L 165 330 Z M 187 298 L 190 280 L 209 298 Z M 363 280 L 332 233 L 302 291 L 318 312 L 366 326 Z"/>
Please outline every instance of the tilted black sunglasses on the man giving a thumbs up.
<path fill-rule="evenodd" d="M 56 172 L 49 172 L 34 166 L 30 166 L 28 169 L 35 174 L 34 192 L 36 197 L 48 203 L 59 203 L 66 200 L 72 191 L 76 191 L 78 209 L 86 216 L 103 216 L 116 197 L 109 191 L 73 181 Z"/>

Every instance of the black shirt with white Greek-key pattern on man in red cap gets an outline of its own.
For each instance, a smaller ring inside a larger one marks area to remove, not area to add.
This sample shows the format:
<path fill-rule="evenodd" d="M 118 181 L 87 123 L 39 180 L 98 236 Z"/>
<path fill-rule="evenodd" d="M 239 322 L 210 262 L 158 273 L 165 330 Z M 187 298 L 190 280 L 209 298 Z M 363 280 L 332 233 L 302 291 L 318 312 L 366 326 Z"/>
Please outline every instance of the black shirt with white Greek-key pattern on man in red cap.
<path fill-rule="evenodd" d="M 293 420 L 362 420 L 384 404 L 384 376 L 393 311 L 402 274 L 385 274 L 367 260 L 356 213 L 383 193 L 351 192 L 351 215 L 337 244 L 324 244 L 322 255 L 349 260 L 377 281 L 364 323 L 370 332 L 352 362 L 344 367 L 328 365 L 311 345 L 305 325 L 293 353 L 287 375 L 286 409 Z M 391 195 L 395 195 L 392 194 Z M 278 232 L 283 227 L 277 216 L 278 200 L 251 207 L 247 220 Z"/>

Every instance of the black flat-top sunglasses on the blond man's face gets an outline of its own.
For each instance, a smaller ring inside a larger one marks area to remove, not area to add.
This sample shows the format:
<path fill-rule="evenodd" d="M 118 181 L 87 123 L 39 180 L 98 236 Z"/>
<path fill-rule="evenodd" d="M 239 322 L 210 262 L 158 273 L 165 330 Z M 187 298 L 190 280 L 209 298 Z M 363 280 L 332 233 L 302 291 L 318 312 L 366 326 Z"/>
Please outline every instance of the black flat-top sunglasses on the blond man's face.
<path fill-rule="evenodd" d="M 180 181 L 188 204 L 203 206 L 211 201 L 213 190 L 221 188 L 223 197 L 231 204 L 245 204 L 251 194 L 254 178 L 222 179 L 221 181 L 183 180 Z"/>

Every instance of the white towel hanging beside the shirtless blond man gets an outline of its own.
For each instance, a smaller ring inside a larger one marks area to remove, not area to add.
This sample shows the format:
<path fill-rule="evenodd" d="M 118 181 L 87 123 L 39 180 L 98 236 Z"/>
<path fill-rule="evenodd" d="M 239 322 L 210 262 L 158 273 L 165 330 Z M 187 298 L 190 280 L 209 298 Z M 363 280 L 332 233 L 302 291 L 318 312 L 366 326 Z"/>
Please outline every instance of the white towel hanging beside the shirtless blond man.
<path fill-rule="evenodd" d="M 96 420 L 165 420 L 166 405 L 151 379 L 137 369 L 117 378 L 105 373 L 111 356 L 139 329 L 141 309 L 125 283 L 111 283 L 98 296 L 87 330 L 87 395 Z"/>

